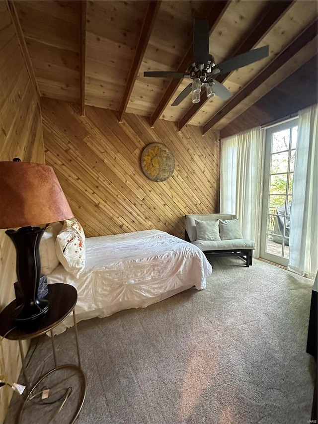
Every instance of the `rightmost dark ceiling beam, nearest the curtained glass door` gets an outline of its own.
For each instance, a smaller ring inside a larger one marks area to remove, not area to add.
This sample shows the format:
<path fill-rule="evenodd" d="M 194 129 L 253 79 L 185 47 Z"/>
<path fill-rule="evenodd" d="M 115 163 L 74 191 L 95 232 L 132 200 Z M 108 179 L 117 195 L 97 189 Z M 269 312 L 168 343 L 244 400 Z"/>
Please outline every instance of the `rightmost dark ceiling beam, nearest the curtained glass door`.
<path fill-rule="evenodd" d="M 217 112 L 205 125 L 202 127 L 202 133 L 205 134 L 214 127 L 221 119 L 223 119 L 232 109 L 239 105 L 247 96 L 255 89 L 259 88 L 270 77 L 273 76 L 281 67 L 283 67 L 293 56 L 300 52 L 307 44 L 313 41 L 317 36 L 318 21 L 315 20 L 306 30 L 304 30 L 285 50 L 283 50 L 260 74 L 258 74 L 248 85 L 243 87 L 235 97 L 233 97 L 226 105 Z M 300 67 L 302 63 L 298 64 Z M 288 75 L 287 75 L 288 76 Z M 283 75 L 281 80 L 277 80 L 278 85 L 286 77 Z M 271 87 L 273 88 L 273 87 Z M 258 98 L 254 99 L 254 103 Z"/>

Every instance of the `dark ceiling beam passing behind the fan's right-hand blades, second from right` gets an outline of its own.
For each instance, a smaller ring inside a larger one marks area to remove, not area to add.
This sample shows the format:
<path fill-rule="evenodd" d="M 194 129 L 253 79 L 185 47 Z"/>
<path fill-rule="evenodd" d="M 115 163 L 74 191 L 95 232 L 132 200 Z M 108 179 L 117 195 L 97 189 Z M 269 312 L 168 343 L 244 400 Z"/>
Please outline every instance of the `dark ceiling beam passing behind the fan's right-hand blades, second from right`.
<path fill-rule="evenodd" d="M 252 30 L 249 36 L 240 44 L 240 46 L 233 51 L 230 57 L 238 56 L 241 53 L 245 53 L 248 50 L 251 50 L 255 47 L 268 33 L 268 31 L 275 25 L 278 19 L 281 19 L 282 16 L 287 12 L 291 7 L 294 1 L 271 1 L 266 8 L 266 14 L 263 14 L 259 19 L 257 26 Z M 217 77 L 216 80 L 219 83 L 223 83 L 227 80 L 229 75 L 232 73 L 224 74 L 220 77 Z M 209 100 L 207 97 L 206 91 L 202 91 L 200 95 L 200 102 L 194 104 L 180 119 L 178 122 L 178 130 L 181 129 L 193 118 L 193 116 L 199 112 L 201 107 Z"/>

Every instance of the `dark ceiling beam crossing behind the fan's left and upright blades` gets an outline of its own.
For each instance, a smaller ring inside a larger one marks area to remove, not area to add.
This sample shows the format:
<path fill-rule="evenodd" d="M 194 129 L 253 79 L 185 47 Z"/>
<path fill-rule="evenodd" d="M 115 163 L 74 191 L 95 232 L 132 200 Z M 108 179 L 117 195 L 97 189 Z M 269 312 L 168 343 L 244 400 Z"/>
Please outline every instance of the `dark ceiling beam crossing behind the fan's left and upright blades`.
<path fill-rule="evenodd" d="M 223 16 L 224 12 L 228 8 L 231 1 L 213 1 L 211 2 L 211 8 L 209 11 L 209 14 L 207 18 L 209 19 L 209 27 L 210 27 L 210 35 L 216 26 L 216 24 L 219 22 L 221 17 Z M 184 58 L 182 59 L 182 62 L 180 63 L 178 69 L 176 72 L 186 72 L 189 65 L 193 62 L 193 43 L 191 43 L 190 47 L 188 48 L 188 51 Z M 150 124 L 153 127 L 155 123 L 158 121 L 160 116 L 162 115 L 164 109 L 168 105 L 169 101 L 171 100 L 171 97 L 177 90 L 178 86 L 181 84 L 181 80 L 172 80 L 171 83 L 168 85 L 167 89 L 165 90 L 161 100 L 159 101 L 159 104 L 153 113 L 153 115 L 150 118 Z"/>

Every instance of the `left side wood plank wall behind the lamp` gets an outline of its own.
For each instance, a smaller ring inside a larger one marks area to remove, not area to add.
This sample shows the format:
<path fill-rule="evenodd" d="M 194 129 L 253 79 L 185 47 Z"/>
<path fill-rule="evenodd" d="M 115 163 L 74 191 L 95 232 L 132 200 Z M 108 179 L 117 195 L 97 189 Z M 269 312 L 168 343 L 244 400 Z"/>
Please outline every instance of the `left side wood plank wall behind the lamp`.
<path fill-rule="evenodd" d="M 38 97 L 5 1 L 0 1 L 0 17 L 0 161 L 19 157 L 22 161 L 44 163 Z M 0 311 L 14 299 L 16 281 L 15 250 L 4 231 L 0 230 Z M 3 340 L 0 355 L 6 374 L 16 381 L 21 369 L 18 342 Z M 0 374 L 3 371 L 0 369 Z M 9 386 L 0 390 L 0 423 L 4 421 L 12 393 Z"/>

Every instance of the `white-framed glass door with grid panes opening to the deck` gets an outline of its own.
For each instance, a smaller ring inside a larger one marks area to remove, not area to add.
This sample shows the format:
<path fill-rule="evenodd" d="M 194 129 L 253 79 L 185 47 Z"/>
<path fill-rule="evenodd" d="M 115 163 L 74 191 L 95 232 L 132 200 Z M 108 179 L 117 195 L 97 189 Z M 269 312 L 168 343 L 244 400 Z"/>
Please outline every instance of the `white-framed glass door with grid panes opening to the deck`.
<path fill-rule="evenodd" d="M 298 118 L 266 130 L 260 257 L 289 260 L 289 228 Z"/>

